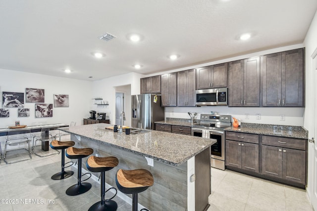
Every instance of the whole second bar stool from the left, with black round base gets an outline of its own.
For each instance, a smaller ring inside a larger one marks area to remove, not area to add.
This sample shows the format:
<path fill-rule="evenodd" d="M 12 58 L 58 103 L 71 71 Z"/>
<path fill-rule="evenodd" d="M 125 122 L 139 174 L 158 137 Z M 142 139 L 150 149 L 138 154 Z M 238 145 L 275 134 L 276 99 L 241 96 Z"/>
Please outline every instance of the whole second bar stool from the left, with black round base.
<path fill-rule="evenodd" d="M 81 175 L 81 163 L 82 163 L 81 159 L 93 154 L 93 152 L 94 152 L 94 150 L 92 148 L 78 149 L 75 147 L 68 147 L 66 149 L 65 154 L 66 154 L 67 158 L 78 159 L 78 176 L 77 176 L 78 181 L 77 181 L 77 184 L 70 186 L 66 190 L 67 195 L 77 196 L 79 194 L 85 193 L 85 192 L 90 190 L 91 184 L 89 182 L 83 182 L 83 181 L 86 181 L 87 179 L 89 179 L 91 177 L 91 173 L 83 174 L 83 175 L 90 174 L 90 176 L 85 180 L 81 180 L 81 177 L 83 176 L 83 175 Z"/>

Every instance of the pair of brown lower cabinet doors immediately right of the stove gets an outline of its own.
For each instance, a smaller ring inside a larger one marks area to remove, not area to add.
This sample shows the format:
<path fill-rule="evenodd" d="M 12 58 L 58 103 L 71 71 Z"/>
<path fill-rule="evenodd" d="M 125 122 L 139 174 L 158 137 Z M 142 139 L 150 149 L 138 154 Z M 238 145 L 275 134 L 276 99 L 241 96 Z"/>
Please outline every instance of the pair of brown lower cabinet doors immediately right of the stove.
<path fill-rule="evenodd" d="M 259 144 L 226 140 L 226 166 L 259 172 Z"/>

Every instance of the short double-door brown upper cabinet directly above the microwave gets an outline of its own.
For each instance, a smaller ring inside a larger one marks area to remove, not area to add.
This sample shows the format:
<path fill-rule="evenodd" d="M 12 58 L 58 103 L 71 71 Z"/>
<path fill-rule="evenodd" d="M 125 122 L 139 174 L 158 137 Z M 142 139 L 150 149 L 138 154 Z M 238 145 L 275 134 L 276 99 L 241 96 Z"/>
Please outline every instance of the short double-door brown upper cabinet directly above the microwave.
<path fill-rule="evenodd" d="M 196 89 L 227 86 L 228 63 L 211 65 L 196 69 Z"/>

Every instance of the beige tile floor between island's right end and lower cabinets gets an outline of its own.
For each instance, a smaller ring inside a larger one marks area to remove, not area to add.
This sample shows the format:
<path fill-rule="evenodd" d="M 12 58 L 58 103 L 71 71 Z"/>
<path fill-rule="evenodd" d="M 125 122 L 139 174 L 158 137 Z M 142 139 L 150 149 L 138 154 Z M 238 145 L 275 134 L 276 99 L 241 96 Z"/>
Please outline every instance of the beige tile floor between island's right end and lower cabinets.
<path fill-rule="evenodd" d="M 208 211 L 314 211 L 303 189 L 213 168 L 209 204 Z"/>

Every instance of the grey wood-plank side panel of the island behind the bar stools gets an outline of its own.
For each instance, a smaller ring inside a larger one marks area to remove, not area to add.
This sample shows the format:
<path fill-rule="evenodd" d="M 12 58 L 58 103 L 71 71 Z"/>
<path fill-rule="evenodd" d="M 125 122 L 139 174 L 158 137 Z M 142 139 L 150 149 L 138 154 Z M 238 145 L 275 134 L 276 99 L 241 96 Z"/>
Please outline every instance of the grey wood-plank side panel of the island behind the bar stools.
<path fill-rule="evenodd" d="M 138 194 L 138 202 L 151 211 L 187 211 L 187 162 L 175 167 L 158 161 L 154 161 L 154 167 L 148 166 L 144 156 L 121 150 L 116 147 L 100 143 L 85 137 L 79 141 L 75 135 L 71 140 L 75 141 L 78 148 L 90 147 L 99 157 L 114 156 L 118 158 L 117 167 L 106 171 L 106 183 L 116 187 L 115 174 L 118 169 L 147 169 L 154 176 L 154 185 L 146 191 Z M 83 159 L 82 168 L 86 169 L 86 160 Z M 92 172 L 93 173 L 93 172 Z M 99 173 L 93 173 L 99 177 Z M 128 194 L 130 198 L 131 194 Z"/>

